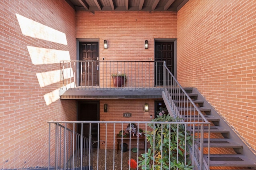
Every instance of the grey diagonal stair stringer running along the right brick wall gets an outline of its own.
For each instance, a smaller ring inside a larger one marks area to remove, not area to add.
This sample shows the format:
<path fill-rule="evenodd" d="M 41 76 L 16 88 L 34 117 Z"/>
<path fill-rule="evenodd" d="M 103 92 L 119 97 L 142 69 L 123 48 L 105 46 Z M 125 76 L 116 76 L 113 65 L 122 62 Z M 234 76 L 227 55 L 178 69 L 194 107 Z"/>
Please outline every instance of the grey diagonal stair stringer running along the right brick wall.
<path fill-rule="evenodd" d="M 242 145 L 241 149 L 237 149 L 237 150 L 234 149 L 235 152 L 240 153 L 240 154 L 246 156 L 247 158 L 249 158 L 250 160 L 255 161 L 256 160 L 256 151 L 253 150 L 250 147 L 250 145 L 244 139 L 242 139 L 240 137 L 239 133 L 234 129 L 234 127 L 229 125 L 229 123 L 224 119 L 224 117 L 222 117 L 222 115 L 220 115 L 220 113 L 218 113 L 216 111 L 216 109 L 214 109 L 214 107 L 200 94 L 200 92 L 196 88 L 193 88 L 192 93 L 198 94 L 197 99 L 204 101 L 204 107 L 211 109 L 210 114 L 213 115 L 214 117 L 218 117 L 220 119 L 218 126 L 229 131 L 228 135 L 222 134 L 224 136 L 224 138 L 229 138 L 233 141 L 236 141 L 238 144 Z"/>

